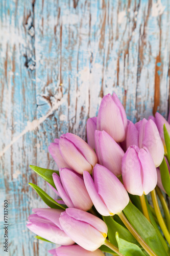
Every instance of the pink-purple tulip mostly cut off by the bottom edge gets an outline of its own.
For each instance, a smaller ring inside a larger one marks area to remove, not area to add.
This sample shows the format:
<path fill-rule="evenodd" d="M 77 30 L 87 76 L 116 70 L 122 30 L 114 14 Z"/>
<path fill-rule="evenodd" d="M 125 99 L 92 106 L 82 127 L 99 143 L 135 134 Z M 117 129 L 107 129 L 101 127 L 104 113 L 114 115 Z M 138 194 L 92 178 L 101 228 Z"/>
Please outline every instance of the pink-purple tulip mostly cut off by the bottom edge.
<path fill-rule="evenodd" d="M 52 249 L 50 251 L 53 256 L 104 256 L 105 254 L 97 249 L 95 251 L 87 251 L 81 246 L 74 244 L 68 246 L 60 246 L 56 249 Z"/>

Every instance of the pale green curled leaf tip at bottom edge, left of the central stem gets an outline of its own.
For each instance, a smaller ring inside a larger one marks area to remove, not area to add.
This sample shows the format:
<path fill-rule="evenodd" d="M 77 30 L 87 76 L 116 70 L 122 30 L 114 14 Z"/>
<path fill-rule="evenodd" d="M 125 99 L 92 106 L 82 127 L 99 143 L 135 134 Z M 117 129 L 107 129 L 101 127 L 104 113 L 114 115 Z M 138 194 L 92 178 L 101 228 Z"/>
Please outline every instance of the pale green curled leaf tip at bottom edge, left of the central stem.
<path fill-rule="evenodd" d="M 125 241 L 119 238 L 118 232 L 116 232 L 116 240 L 118 244 L 118 250 L 125 256 L 145 256 L 142 250 L 136 244 Z"/>

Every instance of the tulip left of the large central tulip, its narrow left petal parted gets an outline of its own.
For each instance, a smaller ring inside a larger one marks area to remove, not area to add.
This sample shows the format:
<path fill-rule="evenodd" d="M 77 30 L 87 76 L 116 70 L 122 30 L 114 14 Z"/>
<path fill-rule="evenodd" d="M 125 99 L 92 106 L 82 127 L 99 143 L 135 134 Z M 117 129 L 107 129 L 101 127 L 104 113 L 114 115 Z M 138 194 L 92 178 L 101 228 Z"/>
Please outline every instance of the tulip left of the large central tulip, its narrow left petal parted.
<path fill-rule="evenodd" d="M 60 177 L 54 173 L 53 180 L 59 196 L 71 208 L 89 210 L 93 203 L 88 195 L 83 177 L 68 168 L 59 169 Z"/>

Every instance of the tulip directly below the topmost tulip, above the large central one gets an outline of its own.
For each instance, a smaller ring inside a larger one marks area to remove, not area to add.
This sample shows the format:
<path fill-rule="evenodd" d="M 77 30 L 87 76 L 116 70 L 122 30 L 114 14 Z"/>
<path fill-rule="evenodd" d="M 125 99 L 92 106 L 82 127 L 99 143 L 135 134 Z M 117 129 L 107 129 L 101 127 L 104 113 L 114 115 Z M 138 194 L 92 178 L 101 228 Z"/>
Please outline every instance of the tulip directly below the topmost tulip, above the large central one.
<path fill-rule="evenodd" d="M 122 173 L 122 148 L 105 131 L 95 131 L 95 151 L 99 164 L 108 168 L 114 175 Z"/>

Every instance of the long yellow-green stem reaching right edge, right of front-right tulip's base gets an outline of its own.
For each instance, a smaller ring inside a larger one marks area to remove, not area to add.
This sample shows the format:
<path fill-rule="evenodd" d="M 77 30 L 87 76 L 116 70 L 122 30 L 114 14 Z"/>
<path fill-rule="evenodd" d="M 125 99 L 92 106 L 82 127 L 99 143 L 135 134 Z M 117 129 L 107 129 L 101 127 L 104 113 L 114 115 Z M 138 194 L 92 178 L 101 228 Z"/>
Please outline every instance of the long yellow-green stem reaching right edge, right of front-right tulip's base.
<path fill-rule="evenodd" d="M 157 200 L 157 197 L 156 197 L 155 189 L 151 191 L 151 197 L 152 197 L 152 202 L 153 202 L 153 205 L 154 205 L 154 209 L 155 209 L 155 212 L 156 212 L 156 217 L 158 219 L 159 225 L 162 229 L 162 232 L 163 232 L 168 244 L 170 245 L 170 234 L 167 230 L 167 227 L 166 227 L 166 225 L 164 223 L 164 220 L 163 220 L 163 217 L 161 215 L 161 211 L 160 211 L 160 208 L 159 208 L 159 204 L 158 204 L 158 200 Z"/>

